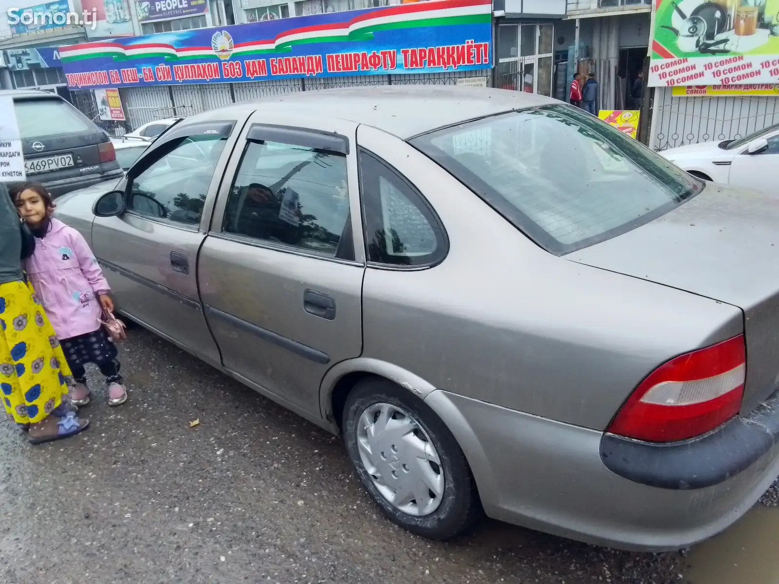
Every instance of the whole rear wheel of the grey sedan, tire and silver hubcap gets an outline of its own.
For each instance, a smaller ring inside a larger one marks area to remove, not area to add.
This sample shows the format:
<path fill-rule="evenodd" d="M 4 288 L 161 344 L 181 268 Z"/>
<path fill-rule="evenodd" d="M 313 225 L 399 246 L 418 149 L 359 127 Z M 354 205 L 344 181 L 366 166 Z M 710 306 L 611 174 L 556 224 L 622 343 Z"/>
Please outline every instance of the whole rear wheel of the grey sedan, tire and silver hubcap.
<path fill-rule="evenodd" d="M 399 526 L 435 540 L 481 515 L 465 456 L 442 420 L 392 382 L 368 378 L 344 404 L 346 449 L 361 483 Z"/>

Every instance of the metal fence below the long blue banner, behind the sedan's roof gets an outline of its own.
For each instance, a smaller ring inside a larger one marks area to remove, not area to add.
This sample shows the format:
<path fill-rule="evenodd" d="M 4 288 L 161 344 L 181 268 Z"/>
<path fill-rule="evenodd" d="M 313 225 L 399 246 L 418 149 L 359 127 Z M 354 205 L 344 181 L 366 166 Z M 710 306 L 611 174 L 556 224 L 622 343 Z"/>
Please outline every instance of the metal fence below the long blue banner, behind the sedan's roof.
<path fill-rule="evenodd" d="M 273 79 L 249 83 L 130 87 L 119 90 L 127 118 L 125 122 L 99 120 L 97 104 L 91 90 L 72 91 L 72 97 L 76 107 L 100 127 L 112 135 L 121 135 L 150 121 L 199 114 L 215 107 L 283 93 L 377 85 L 456 85 L 457 79 L 484 79 L 485 77 L 489 84 L 487 71 L 451 71 L 411 75 L 362 75 L 320 79 Z"/>

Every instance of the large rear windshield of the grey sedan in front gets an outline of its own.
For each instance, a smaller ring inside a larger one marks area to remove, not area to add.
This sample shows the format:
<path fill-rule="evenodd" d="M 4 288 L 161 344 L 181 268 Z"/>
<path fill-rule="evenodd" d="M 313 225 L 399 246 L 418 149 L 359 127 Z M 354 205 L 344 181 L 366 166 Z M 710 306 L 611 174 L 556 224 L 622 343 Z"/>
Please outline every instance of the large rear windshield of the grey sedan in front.
<path fill-rule="evenodd" d="M 411 145 L 558 255 L 647 223 L 704 188 L 635 139 L 566 105 L 468 121 Z"/>

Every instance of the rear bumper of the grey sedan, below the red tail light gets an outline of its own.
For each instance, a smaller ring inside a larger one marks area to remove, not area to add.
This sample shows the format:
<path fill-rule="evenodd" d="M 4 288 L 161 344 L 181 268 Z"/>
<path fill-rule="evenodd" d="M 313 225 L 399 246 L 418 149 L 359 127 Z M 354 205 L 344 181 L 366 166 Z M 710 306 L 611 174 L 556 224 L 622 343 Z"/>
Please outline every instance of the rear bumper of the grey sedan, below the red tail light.
<path fill-rule="evenodd" d="M 626 451 L 636 460 L 632 465 L 613 451 L 622 461 L 621 472 L 643 469 L 643 483 L 609 470 L 601 460 L 601 443 L 608 448 L 612 441 L 601 431 L 441 390 L 425 402 L 460 443 L 488 515 L 591 544 L 640 551 L 688 547 L 730 526 L 779 475 L 779 445 L 766 429 L 767 424 L 779 426 L 779 419 L 774 420 L 779 410 L 774 415 L 770 404 L 754 420 L 738 420 L 746 428 L 724 432 L 717 443 L 691 441 L 682 457 L 682 451 L 664 451 L 670 453 L 674 480 L 682 479 L 676 484 L 686 481 L 668 488 L 647 484 L 648 477 L 662 482 L 671 473 L 660 453 L 646 463 L 632 449 Z M 738 449 L 751 454 L 737 456 Z M 683 463 L 697 466 L 685 469 Z M 702 467 L 710 470 L 695 487 Z"/>

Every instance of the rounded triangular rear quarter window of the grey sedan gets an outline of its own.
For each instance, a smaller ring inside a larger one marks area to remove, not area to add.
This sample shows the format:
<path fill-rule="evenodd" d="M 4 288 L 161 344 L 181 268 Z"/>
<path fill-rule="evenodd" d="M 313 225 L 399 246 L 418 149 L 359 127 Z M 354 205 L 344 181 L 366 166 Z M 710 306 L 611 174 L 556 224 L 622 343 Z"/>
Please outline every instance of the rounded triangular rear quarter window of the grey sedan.
<path fill-rule="evenodd" d="M 359 157 L 368 261 L 389 266 L 433 266 L 447 252 L 440 220 L 395 169 L 362 150 Z"/>

